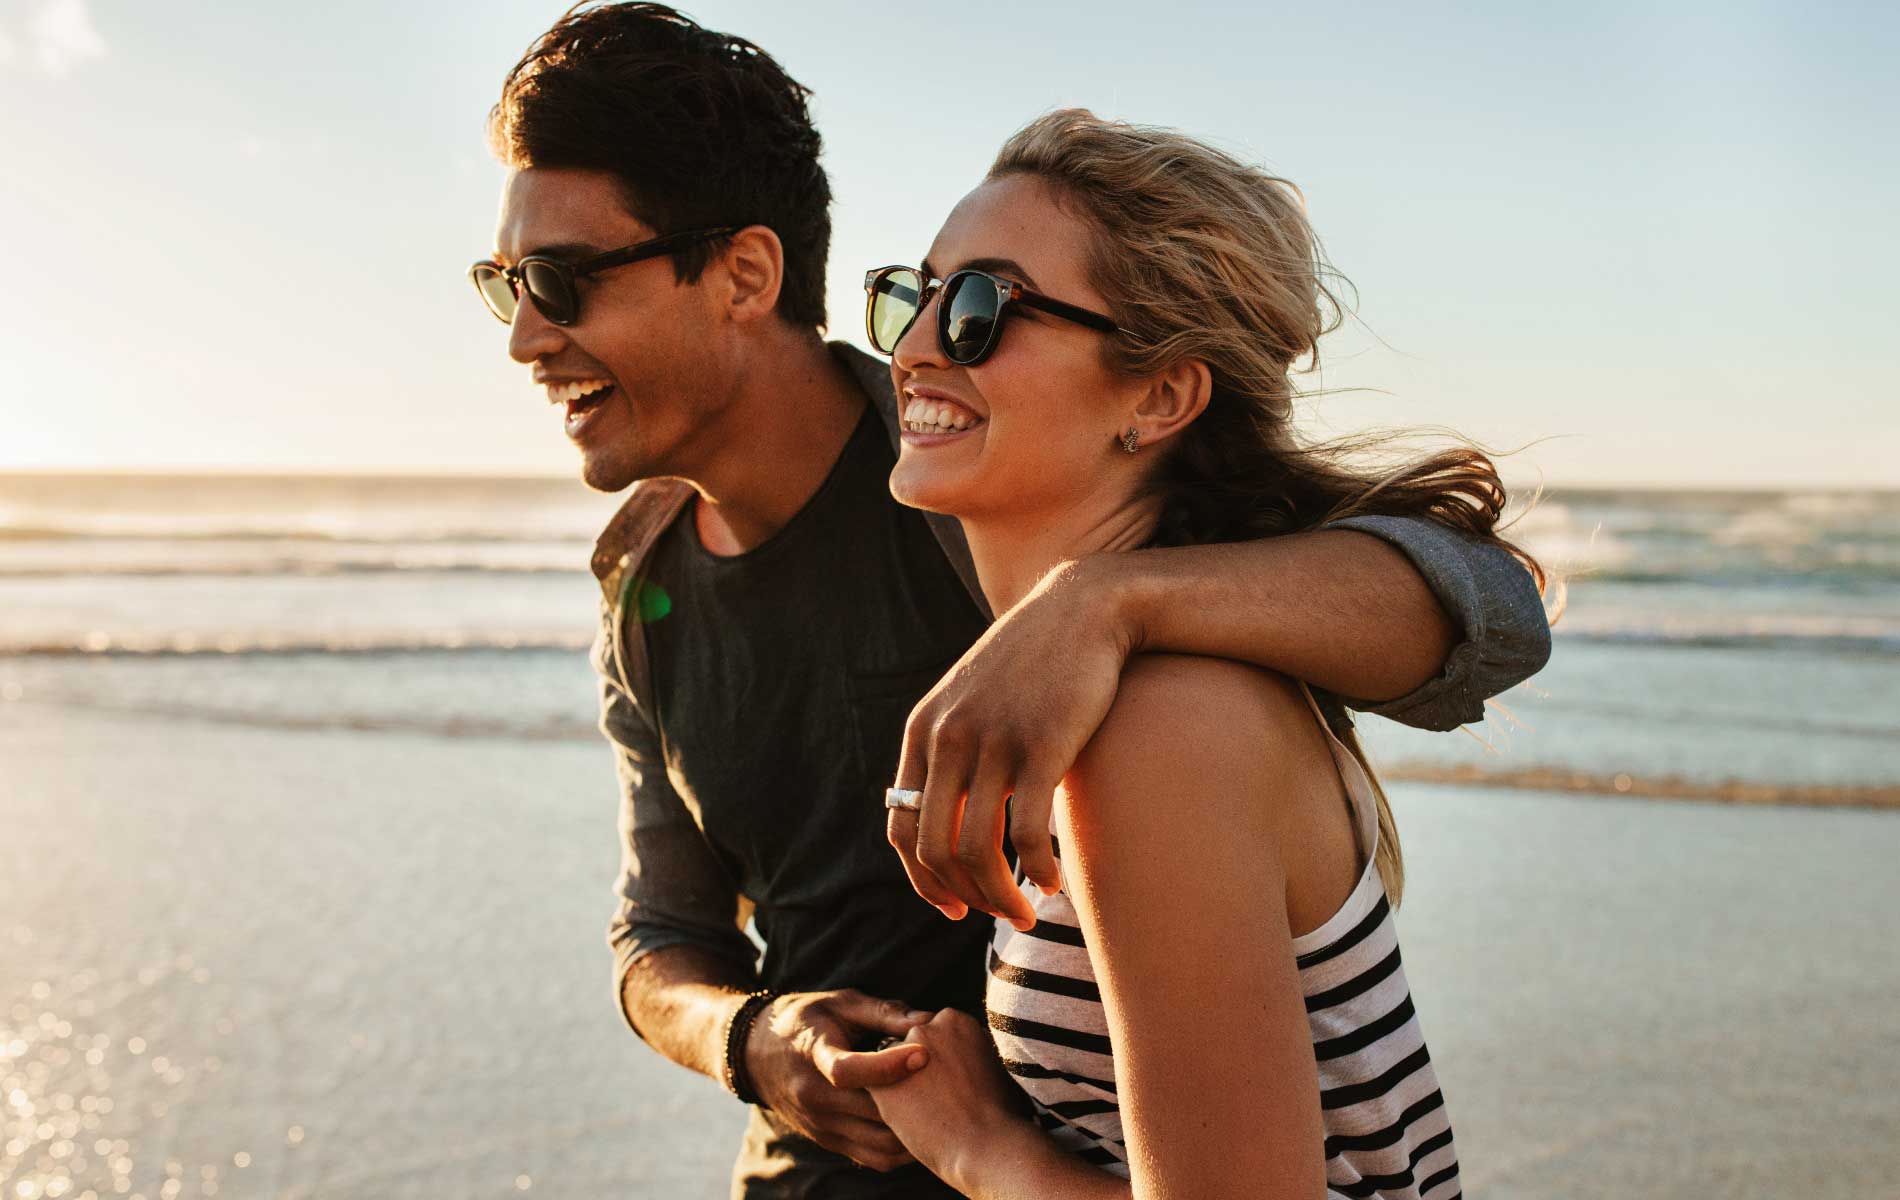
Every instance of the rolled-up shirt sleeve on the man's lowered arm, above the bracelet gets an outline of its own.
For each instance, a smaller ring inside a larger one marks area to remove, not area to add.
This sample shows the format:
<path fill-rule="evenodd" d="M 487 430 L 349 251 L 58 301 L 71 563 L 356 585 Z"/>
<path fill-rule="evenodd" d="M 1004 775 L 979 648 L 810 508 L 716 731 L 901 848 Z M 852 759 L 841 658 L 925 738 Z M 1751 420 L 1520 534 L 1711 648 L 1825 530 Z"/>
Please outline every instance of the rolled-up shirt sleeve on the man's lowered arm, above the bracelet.
<path fill-rule="evenodd" d="M 697 946 L 752 970 L 758 953 L 737 925 L 739 887 L 667 778 L 659 735 L 627 693 L 612 657 L 612 615 L 602 611 L 593 665 L 600 680 L 600 733 L 614 748 L 619 780 L 619 904 L 606 940 L 614 949 L 614 1006 L 635 1029 L 623 989 L 627 970 L 642 957 L 669 946 Z"/>

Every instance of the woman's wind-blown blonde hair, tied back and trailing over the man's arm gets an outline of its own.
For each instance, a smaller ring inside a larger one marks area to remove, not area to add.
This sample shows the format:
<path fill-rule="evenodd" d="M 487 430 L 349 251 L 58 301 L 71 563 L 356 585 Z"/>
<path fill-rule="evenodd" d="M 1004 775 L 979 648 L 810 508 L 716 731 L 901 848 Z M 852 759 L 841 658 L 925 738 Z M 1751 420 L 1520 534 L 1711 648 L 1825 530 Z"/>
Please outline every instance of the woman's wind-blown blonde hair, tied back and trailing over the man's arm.
<path fill-rule="evenodd" d="M 1391 433 L 1307 442 L 1292 374 L 1345 317 L 1300 190 L 1176 129 L 1049 112 L 1011 137 L 990 178 L 1030 175 L 1098 234 L 1089 277 L 1121 327 L 1110 366 L 1146 376 L 1206 363 L 1214 395 L 1157 456 L 1157 541 L 1246 541 L 1358 515 L 1423 516 L 1501 545 L 1545 589 L 1543 568 L 1497 535 L 1505 488 L 1490 456 L 1457 441 L 1410 456 Z M 1366 761 L 1358 739 L 1347 746 Z M 1374 854 L 1393 904 L 1404 891 L 1398 828 L 1379 811 Z"/>

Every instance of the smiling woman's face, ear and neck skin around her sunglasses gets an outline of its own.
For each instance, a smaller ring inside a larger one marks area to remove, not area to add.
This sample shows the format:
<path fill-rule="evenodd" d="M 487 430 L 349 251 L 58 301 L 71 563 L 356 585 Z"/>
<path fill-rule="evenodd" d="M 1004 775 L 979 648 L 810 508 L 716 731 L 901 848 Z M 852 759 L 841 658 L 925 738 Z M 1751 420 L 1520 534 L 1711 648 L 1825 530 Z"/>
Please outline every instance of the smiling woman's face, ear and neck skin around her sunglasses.
<path fill-rule="evenodd" d="M 1015 175 L 982 184 L 952 209 L 923 270 L 937 279 L 986 270 L 1108 313 L 1087 277 L 1089 245 L 1089 226 L 1045 182 Z M 901 403 L 914 395 L 980 418 L 954 435 L 906 433 L 891 494 L 963 520 L 996 611 L 1066 558 L 1146 541 L 1157 505 L 1138 497 L 1142 480 L 1153 456 L 1206 404 L 1206 366 L 1123 376 L 1108 366 L 1104 336 L 1018 306 L 996 353 L 958 366 L 937 344 L 933 300 L 891 357 Z M 1121 450 L 1129 427 L 1140 454 Z"/>

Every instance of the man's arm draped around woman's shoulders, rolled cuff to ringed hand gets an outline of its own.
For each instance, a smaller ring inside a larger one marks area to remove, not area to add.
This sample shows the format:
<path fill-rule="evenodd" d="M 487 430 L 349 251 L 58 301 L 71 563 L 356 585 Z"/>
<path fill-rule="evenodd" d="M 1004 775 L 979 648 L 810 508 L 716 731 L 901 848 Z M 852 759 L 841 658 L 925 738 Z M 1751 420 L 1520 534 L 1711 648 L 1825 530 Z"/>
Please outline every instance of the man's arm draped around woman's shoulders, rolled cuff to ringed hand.
<path fill-rule="evenodd" d="M 918 894 L 950 917 L 1034 919 L 1003 862 L 1003 797 L 1015 794 L 1007 824 L 1022 870 L 1056 887 L 1054 786 L 1136 649 L 1258 663 L 1450 729 L 1535 674 L 1550 634 L 1530 572 L 1507 551 L 1421 518 L 1062 564 L 910 714 L 897 782 L 923 790 L 923 807 L 893 809 L 889 839 Z"/>

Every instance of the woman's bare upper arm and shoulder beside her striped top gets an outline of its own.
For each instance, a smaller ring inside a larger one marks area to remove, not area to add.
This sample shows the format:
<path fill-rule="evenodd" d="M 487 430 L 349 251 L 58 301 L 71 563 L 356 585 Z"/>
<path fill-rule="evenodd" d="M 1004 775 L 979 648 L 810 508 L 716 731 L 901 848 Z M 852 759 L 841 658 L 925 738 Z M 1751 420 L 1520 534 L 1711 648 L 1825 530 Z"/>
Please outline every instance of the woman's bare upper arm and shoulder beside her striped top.
<path fill-rule="evenodd" d="M 1324 1194 L 1286 837 L 1298 805 L 1341 799 L 1303 697 L 1237 663 L 1142 655 L 1064 792 L 1134 1196 Z"/>

